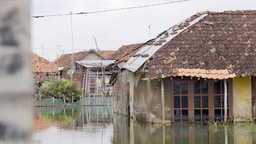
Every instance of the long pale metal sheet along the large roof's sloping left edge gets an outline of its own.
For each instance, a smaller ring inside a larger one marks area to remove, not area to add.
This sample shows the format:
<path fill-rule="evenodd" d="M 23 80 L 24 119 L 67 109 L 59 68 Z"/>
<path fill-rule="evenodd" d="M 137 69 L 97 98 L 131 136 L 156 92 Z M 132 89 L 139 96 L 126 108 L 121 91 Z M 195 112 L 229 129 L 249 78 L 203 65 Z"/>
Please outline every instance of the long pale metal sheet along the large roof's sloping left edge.
<path fill-rule="evenodd" d="M 197 19 L 189 22 L 189 26 L 197 23 L 197 21 L 199 21 L 200 19 L 202 19 L 203 17 L 207 16 L 207 14 L 203 14 L 200 17 L 197 17 Z M 181 23 L 185 23 L 184 21 L 181 21 Z M 180 23 L 179 23 L 180 24 Z M 185 27 L 185 29 L 187 29 L 188 27 Z M 155 52 L 157 52 L 161 47 L 163 47 L 163 45 L 165 45 L 165 43 L 167 43 L 168 41 L 171 41 L 171 39 L 173 39 L 173 37 L 176 37 L 177 35 L 179 35 L 179 33 L 181 33 L 182 31 L 184 31 L 185 29 L 179 29 L 175 32 L 177 32 L 175 35 L 169 35 L 169 37 L 165 38 L 166 41 L 162 42 L 162 45 L 145 45 L 145 47 L 143 47 L 142 49 L 140 49 L 135 55 L 140 55 L 139 57 L 131 57 L 126 63 L 125 65 L 123 65 L 122 68 L 125 69 L 129 69 L 130 71 L 137 71 L 137 69 L 139 69 L 139 67 L 141 67 L 141 65 L 143 65 L 143 63 L 145 63 L 145 61 L 147 61 Z M 173 28 L 169 29 L 167 31 L 168 33 L 172 33 L 173 32 Z M 163 33 L 163 35 L 165 35 L 165 33 Z M 155 43 L 157 43 L 160 40 L 161 36 L 159 38 L 156 39 Z M 143 57 L 143 55 L 148 55 L 146 57 Z"/>

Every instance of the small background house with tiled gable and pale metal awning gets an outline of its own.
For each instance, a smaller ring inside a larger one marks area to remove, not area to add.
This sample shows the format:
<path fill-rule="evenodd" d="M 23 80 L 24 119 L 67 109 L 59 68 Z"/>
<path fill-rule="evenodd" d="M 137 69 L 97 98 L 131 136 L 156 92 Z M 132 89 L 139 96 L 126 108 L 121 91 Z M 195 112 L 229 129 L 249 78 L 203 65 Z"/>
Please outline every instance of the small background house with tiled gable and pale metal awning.
<path fill-rule="evenodd" d="M 111 73 L 109 69 L 105 68 L 107 65 L 114 63 L 112 59 L 114 51 L 81 51 L 73 53 L 73 75 L 72 80 L 77 83 L 79 87 L 85 87 L 87 95 L 94 95 L 96 91 L 99 91 L 99 85 L 103 83 L 103 77 L 105 77 L 105 83 L 109 83 Z M 72 54 L 61 55 L 55 59 L 53 63 L 59 65 L 61 71 L 61 77 L 63 79 L 71 80 L 72 71 Z M 102 65 L 101 65 L 102 63 Z M 101 69 L 101 66 L 103 69 Z M 103 70 L 103 71 L 102 71 Z M 86 86 L 85 86 L 86 85 Z M 111 85 L 105 85 L 105 91 L 112 95 L 113 87 Z"/>

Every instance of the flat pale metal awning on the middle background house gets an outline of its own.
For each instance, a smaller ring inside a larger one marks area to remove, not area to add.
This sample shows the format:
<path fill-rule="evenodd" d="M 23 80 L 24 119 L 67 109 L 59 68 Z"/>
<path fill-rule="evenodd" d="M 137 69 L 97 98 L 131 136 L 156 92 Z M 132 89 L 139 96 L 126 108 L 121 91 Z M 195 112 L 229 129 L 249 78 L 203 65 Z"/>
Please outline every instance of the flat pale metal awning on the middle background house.
<path fill-rule="evenodd" d="M 75 61 L 79 65 L 83 65 L 84 67 L 89 68 L 99 68 L 101 67 L 101 62 L 103 67 L 107 67 L 107 65 L 110 65 L 111 63 L 115 63 L 115 60 L 84 60 L 84 61 Z"/>

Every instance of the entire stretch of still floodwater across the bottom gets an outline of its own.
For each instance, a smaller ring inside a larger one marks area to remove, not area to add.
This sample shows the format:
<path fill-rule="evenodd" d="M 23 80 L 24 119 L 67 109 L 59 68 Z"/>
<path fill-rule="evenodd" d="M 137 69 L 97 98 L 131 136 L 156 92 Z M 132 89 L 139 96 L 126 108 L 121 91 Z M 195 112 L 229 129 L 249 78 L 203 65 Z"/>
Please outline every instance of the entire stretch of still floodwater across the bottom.
<path fill-rule="evenodd" d="M 112 107 L 35 107 L 33 143 L 256 143 L 256 124 L 129 121 Z"/>

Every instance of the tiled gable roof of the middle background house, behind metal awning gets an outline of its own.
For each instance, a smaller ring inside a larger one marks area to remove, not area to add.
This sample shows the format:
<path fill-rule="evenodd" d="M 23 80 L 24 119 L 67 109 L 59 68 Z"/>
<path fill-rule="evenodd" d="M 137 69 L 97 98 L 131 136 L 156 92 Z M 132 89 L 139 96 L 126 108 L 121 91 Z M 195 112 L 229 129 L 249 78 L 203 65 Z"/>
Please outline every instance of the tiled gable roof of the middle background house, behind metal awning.
<path fill-rule="evenodd" d="M 89 53 L 95 53 L 98 57 L 101 57 L 101 59 L 105 60 L 110 57 L 112 51 L 99 51 L 98 53 L 94 51 L 93 49 L 89 51 L 81 51 L 78 53 L 74 53 L 74 61 L 80 61 L 85 56 L 87 56 Z M 69 67 L 71 67 L 71 58 L 72 58 L 72 53 L 61 55 L 59 59 L 55 59 L 53 63 L 57 65 L 57 61 L 59 60 L 59 67 L 63 67 L 63 71 L 67 71 Z"/>

